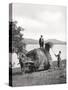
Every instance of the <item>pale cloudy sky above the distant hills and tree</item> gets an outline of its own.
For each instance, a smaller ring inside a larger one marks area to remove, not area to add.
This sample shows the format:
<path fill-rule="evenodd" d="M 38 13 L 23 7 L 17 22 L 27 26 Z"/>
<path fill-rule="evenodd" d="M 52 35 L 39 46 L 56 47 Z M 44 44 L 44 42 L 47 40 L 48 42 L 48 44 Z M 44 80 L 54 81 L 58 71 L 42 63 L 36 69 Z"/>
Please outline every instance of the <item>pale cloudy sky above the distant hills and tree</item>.
<path fill-rule="evenodd" d="M 66 7 L 14 3 L 13 21 L 24 28 L 24 38 L 66 40 Z"/>

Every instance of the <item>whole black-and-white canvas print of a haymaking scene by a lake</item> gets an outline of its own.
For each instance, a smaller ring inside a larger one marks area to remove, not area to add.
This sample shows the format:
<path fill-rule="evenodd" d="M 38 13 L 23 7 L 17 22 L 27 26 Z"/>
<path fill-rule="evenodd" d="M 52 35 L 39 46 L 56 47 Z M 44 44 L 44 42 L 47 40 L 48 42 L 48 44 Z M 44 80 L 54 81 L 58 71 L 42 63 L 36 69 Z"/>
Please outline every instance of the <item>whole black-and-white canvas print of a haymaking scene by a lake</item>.
<path fill-rule="evenodd" d="M 66 84 L 66 7 L 9 4 L 9 85 Z"/>

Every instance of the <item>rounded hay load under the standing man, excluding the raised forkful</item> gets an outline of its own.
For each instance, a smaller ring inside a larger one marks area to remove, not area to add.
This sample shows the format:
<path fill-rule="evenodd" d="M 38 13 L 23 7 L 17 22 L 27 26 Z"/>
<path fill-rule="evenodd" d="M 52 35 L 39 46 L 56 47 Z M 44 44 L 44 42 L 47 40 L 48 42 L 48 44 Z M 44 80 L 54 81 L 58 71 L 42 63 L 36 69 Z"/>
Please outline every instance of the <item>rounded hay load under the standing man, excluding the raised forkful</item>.
<path fill-rule="evenodd" d="M 27 57 L 30 57 L 34 61 L 35 69 L 49 69 L 50 64 L 47 56 L 45 54 L 45 49 L 34 49 L 26 54 Z"/>

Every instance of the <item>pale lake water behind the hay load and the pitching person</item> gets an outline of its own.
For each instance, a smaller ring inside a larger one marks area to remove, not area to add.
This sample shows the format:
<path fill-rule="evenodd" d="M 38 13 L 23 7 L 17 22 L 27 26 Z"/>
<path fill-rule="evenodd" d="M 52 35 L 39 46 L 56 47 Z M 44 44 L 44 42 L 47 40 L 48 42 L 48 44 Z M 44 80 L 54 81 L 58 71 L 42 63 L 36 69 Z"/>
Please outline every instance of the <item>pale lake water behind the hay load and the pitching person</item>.
<path fill-rule="evenodd" d="M 28 44 L 26 46 L 26 50 L 30 51 L 32 49 L 39 48 L 38 44 Z M 52 49 L 50 49 L 50 54 L 52 56 L 52 60 L 57 60 L 55 57 L 55 54 L 58 54 L 58 52 L 61 51 L 61 59 L 66 59 L 66 45 L 54 45 Z"/>

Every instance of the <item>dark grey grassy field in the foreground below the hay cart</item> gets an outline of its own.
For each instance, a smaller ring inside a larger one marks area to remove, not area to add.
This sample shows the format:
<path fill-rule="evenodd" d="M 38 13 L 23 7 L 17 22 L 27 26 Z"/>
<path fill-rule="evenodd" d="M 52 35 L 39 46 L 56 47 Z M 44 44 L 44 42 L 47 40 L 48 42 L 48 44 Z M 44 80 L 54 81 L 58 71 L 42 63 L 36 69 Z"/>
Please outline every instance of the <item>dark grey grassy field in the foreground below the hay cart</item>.
<path fill-rule="evenodd" d="M 61 62 L 61 69 L 57 62 L 53 62 L 53 69 L 21 74 L 20 68 L 13 69 L 13 86 L 31 86 L 66 83 L 66 60 Z"/>

